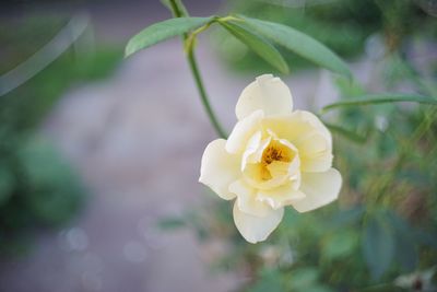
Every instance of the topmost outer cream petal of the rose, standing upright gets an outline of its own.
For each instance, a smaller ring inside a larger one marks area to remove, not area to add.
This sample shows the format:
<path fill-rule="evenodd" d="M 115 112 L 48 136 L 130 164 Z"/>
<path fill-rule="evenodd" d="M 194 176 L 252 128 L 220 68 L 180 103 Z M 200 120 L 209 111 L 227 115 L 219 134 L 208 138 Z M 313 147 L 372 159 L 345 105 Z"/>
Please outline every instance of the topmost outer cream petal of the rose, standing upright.
<path fill-rule="evenodd" d="M 241 120 L 258 109 L 267 116 L 292 113 L 292 93 L 281 79 L 272 74 L 260 75 L 243 90 L 235 107 L 237 118 Z"/>

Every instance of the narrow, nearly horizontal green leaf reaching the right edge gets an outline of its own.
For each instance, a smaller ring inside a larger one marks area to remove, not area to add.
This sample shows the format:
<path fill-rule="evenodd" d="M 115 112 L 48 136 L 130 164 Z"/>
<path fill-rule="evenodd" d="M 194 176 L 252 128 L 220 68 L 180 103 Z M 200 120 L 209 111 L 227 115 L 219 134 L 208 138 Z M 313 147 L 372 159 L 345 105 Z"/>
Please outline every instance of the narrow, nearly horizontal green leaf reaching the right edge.
<path fill-rule="evenodd" d="M 356 106 L 356 105 L 371 105 L 371 104 L 386 104 L 386 103 L 420 103 L 420 104 L 432 104 L 437 105 L 437 100 L 416 95 L 416 94 L 398 94 L 398 93 L 380 93 L 380 94 L 369 94 L 351 100 L 341 101 L 327 105 L 322 108 L 322 112 L 327 112 L 332 108 L 341 106 Z"/>

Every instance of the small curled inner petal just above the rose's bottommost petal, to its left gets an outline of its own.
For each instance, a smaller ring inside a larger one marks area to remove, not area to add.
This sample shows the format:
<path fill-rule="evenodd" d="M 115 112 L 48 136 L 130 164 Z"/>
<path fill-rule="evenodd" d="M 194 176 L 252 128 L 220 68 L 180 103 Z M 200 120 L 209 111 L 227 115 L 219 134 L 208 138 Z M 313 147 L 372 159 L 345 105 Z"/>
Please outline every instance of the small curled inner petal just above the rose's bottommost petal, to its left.
<path fill-rule="evenodd" d="M 243 179 L 231 184 L 229 191 L 237 195 L 236 203 L 238 205 L 238 209 L 245 213 L 265 217 L 272 210 L 269 205 L 257 200 L 257 190 L 247 185 Z"/>

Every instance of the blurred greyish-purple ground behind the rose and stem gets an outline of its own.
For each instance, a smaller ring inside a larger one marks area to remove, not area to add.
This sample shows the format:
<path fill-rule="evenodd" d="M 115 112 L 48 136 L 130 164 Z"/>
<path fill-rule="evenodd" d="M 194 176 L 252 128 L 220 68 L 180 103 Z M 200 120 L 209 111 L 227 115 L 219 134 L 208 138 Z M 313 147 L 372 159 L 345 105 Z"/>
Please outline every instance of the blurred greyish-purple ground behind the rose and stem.
<path fill-rule="evenodd" d="M 97 38 L 122 43 L 167 15 L 154 5 L 160 12 L 149 11 L 152 16 L 143 20 L 141 7 L 119 5 L 91 8 Z M 198 9 L 214 11 L 206 4 Z M 203 149 L 215 135 L 180 45 L 160 44 L 123 61 L 111 79 L 61 98 L 43 131 L 79 168 L 93 197 L 70 227 L 43 234 L 28 258 L 1 264 L 0 291 L 213 292 L 245 281 L 211 273 L 212 250 L 192 232 L 156 229 L 160 218 L 201 208 L 208 197 L 198 176 Z M 199 60 L 213 106 L 231 129 L 238 95 L 255 77 L 233 75 L 204 38 Z M 324 73 L 305 72 L 286 82 L 296 108 L 334 97 Z"/>

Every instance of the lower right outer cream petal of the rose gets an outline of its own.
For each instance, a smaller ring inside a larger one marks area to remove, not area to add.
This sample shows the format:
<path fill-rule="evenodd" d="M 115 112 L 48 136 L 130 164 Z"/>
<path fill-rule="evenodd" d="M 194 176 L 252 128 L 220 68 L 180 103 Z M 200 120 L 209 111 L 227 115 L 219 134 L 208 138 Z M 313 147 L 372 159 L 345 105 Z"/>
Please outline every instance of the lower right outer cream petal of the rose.
<path fill-rule="evenodd" d="M 300 191 L 306 198 L 293 202 L 298 212 L 307 212 L 328 205 L 339 197 L 342 177 L 339 171 L 330 168 L 324 173 L 303 173 Z"/>

